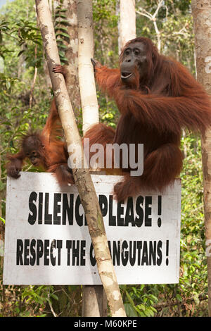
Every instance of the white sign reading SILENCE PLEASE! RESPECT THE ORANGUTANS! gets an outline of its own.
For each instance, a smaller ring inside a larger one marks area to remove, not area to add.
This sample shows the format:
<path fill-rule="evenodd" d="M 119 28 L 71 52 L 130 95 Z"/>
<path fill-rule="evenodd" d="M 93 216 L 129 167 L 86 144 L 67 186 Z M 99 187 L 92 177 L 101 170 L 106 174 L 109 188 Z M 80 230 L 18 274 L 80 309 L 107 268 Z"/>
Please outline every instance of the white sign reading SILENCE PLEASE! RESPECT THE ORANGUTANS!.
<path fill-rule="evenodd" d="M 91 175 L 119 284 L 179 282 L 181 184 L 113 199 L 119 176 Z M 8 178 L 5 285 L 101 285 L 75 185 L 51 173 Z"/>

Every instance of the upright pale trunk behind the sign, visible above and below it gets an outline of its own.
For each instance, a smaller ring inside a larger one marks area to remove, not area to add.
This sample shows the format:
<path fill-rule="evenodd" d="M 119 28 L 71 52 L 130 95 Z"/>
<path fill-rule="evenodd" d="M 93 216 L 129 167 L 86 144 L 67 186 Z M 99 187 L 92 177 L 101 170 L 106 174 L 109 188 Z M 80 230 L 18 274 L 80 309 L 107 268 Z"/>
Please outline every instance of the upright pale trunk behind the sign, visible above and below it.
<path fill-rule="evenodd" d="M 83 132 L 99 122 L 98 101 L 91 58 L 94 56 L 94 31 L 92 1 L 77 0 L 77 19 L 79 36 L 79 89 L 82 100 Z M 82 290 L 82 316 L 106 316 L 107 301 L 103 286 L 84 285 Z"/>

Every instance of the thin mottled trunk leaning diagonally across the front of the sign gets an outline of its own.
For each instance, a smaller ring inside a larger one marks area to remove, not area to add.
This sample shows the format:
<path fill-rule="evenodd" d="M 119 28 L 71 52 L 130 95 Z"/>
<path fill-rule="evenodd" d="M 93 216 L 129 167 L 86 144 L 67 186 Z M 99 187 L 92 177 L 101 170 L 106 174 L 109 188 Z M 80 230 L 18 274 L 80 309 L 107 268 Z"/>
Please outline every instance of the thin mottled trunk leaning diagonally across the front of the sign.
<path fill-rule="evenodd" d="M 54 95 L 56 96 L 56 106 L 60 115 L 60 121 L 65 133 L 65 141 L 70 151 L 70 146 L 75 146 L 83 160 L 82 141 L 77 129 L 75 115 L 72 111 L 72 106 L 68 96 L 68 91 L 65 85 L 63 75 L 54 74 L 52 72 L 53 66 L 60 64 L 58 56 L 58 49 L 56 46 L 56 37 L 53 30 L 53 23 L 51 20 L 51 13 L 49 10 L 48 0 L 36 0 L 37 15 L 39 17 L 39 24 L 41 29 L 42 39 L 44 41 L 44 49 L 46 60 L 49 67 L 51 82 Z M 71 153 L 69 152 L 71 157 Z M 75 178 L 75 183 L 79 192 L 79 197 L 84 208 L 91 235 L 91 241 L 94 246 L 94 253 L 98 272 L 101 277 L 103 287 L 110 306 L 111 316 L 126 316 L 120 289 L 117 284 L 113 263 L 110 258 L 110 251 L 108 248 L 108 241 L 106 231 L 103 224 L 103 217 L 101 208 L 98 204 L 98 198 L 94 189 L 94 184 L 89 174 L 89 169 L 79 167 L 79 158 L 75 158 L 75 163 L 72 163 L 72 173 Z M 82 163 L 83 164 L 83 163 Z"/>

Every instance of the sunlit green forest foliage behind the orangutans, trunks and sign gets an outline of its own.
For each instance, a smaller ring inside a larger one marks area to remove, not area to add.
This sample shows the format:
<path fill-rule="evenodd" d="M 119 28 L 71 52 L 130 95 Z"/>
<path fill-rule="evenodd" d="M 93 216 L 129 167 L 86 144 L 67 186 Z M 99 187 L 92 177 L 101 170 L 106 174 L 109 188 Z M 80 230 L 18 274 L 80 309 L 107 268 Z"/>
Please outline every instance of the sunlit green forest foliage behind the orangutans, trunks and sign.
<path fill-rule="evenodd" d="M 52 2 L 52 1 L 51 1 Z M 63 1 L 53 11 L 60 24 L 57 41 L 62 63 L 68 42 Z M 94 58 L 110 68 L 118 65 L 118 11 L 115 0 L 93 0 Z M 143 13 L 155 13 L 158 1 L 136 0 L 136 35 L 148 37 L 160 52 L 172 56 L 196 75 L 191 1 L 166 0 L 156 16 L 158 30 Z M 63 23 L 62 23 L 63 22 Z M 158 36 L 158 31 L 160 32 Z M 36 75 L 35 75 L 36 73 Z M 6 208 L 6 154 L 30 128 L 44 127 L 52 89 L 33 0 L 14 0 L 0 8 L 0 316 L 81 316 L 79 286 L 8 286 L 2 284 Z M 34 79 L 36 78 L 36 80 Z M 98 91 L 100 120 L 116 127 L 119 113 L 113 101 Z M 82 111 L 77 109 L 82 132 Z M 127 316 L 208 316 L 207 265 L 203 215 L 203 175 L 200 137 L 183 132 L 181 149 L 181 266 L 176 285 L 121 285 Z M 23 170 L 34 171 L 26 164 Z"/>

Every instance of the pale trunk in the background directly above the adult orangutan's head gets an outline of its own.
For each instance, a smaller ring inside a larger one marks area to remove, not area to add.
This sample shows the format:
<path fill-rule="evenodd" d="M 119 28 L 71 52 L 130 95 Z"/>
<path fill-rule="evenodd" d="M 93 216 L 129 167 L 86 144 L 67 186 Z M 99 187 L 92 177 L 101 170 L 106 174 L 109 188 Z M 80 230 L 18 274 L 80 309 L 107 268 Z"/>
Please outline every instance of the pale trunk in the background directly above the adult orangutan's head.
<path fill-rule="evenodd" d="M 119 52 L 126 42 L 136 38 L 136 2 L 135 0 L 120 0 L 119 22 L 120 45 Z"/>

